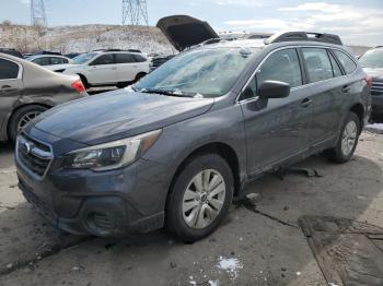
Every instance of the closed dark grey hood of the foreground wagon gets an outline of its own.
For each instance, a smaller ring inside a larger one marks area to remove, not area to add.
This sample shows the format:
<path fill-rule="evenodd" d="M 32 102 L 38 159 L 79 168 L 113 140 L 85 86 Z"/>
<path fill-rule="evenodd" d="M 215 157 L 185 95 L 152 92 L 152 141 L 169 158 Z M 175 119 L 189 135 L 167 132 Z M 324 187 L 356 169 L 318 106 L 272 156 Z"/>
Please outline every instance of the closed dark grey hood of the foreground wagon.
<path fill-rule="evenodd" d="M 53 108 L 39 116 L 33 127 L 61 139 L 94 145 L 199 116 L 208 111 L 213 102 L 213 98 L 174 97 L 120 90 Z"/>

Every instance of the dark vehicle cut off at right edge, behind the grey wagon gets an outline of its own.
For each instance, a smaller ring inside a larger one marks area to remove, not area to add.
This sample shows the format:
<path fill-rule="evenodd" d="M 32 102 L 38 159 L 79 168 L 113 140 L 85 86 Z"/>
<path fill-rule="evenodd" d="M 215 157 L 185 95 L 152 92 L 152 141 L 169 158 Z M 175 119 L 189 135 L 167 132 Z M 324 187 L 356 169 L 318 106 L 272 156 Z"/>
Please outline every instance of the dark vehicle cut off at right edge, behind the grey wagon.
<path fill-rule="evenodd" d="M 372 76 L 372 115 L 383 116 L 383 47 L 365 52 L 359 63 Z"/>

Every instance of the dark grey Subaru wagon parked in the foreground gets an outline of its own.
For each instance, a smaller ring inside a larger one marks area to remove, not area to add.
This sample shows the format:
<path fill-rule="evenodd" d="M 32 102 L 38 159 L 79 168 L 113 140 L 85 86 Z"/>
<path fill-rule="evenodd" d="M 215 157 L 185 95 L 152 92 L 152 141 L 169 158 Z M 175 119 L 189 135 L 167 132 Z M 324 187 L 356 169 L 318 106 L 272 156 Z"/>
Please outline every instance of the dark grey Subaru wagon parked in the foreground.
<path fill-rule="evenodd" d="M 179 29 L 169 27 L 177 43 Z M 20 189 L 72 234 L 166 226 L 194 241 L 263 174 L 322 151 L 349 160 L 370 104 L 367 74 L 338 36 L 221 39 L 179 53 L 130 91 L 43 114 L 18 139 Z"/>

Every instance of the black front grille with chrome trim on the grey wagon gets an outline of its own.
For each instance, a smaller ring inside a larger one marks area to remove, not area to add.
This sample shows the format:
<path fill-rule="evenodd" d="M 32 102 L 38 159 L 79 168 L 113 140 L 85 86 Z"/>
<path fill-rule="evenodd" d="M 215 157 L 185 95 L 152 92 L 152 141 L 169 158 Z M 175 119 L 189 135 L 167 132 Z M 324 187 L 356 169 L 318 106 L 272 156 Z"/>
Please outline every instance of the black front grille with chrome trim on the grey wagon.
<path fill-rule="evenodd" d="M 18 138 L 16 151 L 22 165 L 37 177 L 44 177 L 53 159 L 48 145 L 22 134 Z"/>

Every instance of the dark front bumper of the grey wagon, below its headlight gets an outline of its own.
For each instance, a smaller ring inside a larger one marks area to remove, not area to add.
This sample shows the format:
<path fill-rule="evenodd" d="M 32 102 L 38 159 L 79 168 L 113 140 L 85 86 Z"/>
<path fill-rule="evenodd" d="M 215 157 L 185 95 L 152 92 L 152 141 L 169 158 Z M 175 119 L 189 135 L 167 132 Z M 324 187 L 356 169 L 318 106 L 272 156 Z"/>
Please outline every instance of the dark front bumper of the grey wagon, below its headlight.
<path fill-rule="evenodd" d="M 53 225 L 74 235 L 120 237 L 164 224 L 167 178 L 162 166 L 138 160 L 108 172 L 53 171 L 36 180 L 18 163 L 19 188 Z"/>

